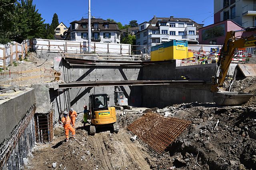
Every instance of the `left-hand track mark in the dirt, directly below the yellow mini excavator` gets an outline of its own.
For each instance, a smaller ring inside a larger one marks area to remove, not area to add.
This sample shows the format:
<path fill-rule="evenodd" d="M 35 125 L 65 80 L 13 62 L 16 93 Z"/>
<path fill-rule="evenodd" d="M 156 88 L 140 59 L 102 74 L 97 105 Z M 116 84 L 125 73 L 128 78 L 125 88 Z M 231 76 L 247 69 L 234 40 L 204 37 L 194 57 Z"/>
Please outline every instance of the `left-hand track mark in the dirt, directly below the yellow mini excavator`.
<path fill-rule="evenodd" d="M 105 170 L 112 170 L 111 162 L 108 157 L 108 151 L 106 150 L 103 137 L 93 136 L 94 147 L 97 148 L 100 157 L 100 162 L 102 163 L 102 168 Z"/>

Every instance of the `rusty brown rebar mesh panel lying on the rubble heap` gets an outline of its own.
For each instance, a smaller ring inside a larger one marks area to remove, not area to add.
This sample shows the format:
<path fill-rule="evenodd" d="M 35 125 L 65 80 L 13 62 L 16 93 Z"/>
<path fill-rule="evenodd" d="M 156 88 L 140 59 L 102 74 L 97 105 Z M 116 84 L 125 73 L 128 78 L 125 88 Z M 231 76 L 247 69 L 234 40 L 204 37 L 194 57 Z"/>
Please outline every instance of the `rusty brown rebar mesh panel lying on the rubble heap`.
<path fill-rule="evenodd" d="M 156 152 L 161 153 L 190 123 L 187 120 L 148 113 L 130 124 L 128 129 Z"/>

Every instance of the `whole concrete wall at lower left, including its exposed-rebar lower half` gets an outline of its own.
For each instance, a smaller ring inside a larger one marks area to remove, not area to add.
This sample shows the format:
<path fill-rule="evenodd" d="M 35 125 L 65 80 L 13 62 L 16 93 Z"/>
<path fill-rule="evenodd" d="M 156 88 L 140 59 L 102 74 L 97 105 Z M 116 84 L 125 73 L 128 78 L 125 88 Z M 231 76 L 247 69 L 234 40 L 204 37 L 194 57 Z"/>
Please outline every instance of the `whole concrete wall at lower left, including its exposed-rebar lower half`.
<path fill-rule="evenodd" d="M 13 170 L 23 167 L 35 143 L 34 89 L 10 98 L 0 104 L 0 154 L 3 169 Z"/>

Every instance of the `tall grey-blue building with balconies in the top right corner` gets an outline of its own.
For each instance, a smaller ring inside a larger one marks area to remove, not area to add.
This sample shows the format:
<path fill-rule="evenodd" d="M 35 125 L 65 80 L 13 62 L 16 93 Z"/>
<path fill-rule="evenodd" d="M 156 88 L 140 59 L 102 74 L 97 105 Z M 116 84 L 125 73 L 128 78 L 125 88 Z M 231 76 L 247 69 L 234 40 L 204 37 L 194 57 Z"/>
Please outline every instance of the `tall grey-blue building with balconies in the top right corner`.
<path fill-rule="evenodd" d="M 256 0 L 214 0 L 214 23 L 228 19 L 243 28 L 256 26 Z"/>

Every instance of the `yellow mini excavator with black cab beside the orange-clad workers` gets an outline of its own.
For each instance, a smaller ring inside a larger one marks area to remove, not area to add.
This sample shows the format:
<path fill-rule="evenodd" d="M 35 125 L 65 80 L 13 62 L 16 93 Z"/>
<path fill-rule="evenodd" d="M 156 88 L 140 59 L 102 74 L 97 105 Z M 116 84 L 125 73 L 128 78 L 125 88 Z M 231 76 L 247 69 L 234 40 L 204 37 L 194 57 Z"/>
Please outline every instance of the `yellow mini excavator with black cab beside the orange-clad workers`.
<path fill-rule="evenodd" d="M 118 133 L 116 124 L 116 109 L 108 107 L 107 94 L 91 94 L 89 96 L 89 110 L 91 112 L 90 135 L 94 135 L 99 127 L 110 127 L 113 132 Z"/>

